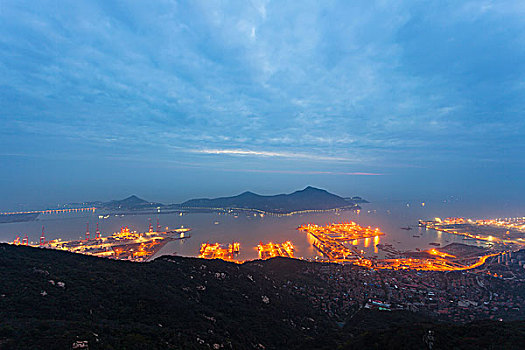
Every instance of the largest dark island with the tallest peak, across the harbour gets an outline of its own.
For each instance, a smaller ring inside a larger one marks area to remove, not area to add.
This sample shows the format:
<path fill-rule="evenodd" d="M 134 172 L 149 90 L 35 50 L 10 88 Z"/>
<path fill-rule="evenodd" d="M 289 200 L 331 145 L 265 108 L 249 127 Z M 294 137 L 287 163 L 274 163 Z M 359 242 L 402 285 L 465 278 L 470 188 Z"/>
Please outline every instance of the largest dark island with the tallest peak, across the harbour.
<path fill-rule="evenodd" d="M 184 208 L 243 208 L 257 209 L 272 213 L 290 213 L 302 210 L 327 210 L 343 207 L 356 207 L 342 197 L 325 190 L 308 186 L 291 194 L 262 196 L 244 192 L 238 196 L 220 198 L 191 199 L 180 204 Z"/>

